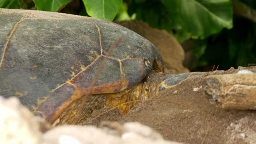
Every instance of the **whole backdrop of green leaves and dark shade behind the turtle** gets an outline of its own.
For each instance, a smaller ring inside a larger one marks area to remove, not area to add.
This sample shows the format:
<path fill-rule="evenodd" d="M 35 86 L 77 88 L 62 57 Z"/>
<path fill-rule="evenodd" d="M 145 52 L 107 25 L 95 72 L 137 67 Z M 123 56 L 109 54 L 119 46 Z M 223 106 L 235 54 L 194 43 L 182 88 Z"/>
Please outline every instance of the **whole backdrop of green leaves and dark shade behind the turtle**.
<path fill-rule="evenodd" d="M 181 43 L 190 41 L 194 68 L 214 64 L 219 69 L 256 63 L 255 6 L 253 0 L 0 0 L 0 8 L 143 20 L 166 29 Z"/>

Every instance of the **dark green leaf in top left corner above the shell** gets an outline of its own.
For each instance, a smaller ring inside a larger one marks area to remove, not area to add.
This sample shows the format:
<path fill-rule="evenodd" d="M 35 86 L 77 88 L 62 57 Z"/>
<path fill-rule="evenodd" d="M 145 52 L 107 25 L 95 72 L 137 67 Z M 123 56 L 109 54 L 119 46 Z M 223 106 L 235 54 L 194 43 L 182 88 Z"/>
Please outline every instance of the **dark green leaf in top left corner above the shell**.
<path fill-rule="evenodd" d="M 7 9 L 20 9 L 26 8 L 26 3 L 22 0 L 1 0 L 0 1 L 0 8 L 7 8 Z"/>

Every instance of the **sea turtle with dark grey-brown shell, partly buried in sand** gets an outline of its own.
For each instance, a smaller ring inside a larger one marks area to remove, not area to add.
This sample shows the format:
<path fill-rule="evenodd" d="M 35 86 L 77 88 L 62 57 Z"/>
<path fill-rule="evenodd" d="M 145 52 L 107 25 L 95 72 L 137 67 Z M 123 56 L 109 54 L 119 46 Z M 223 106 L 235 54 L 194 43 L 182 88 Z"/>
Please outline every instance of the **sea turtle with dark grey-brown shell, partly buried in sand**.
<path fill-rule="evenodd" d="M 50 123 L 82 123 L 94 109 L 149 98 L 191 75 L 164 75 L 150 41 L 108 21 L 0 9 L 0 29 L 0 95 Z"/>

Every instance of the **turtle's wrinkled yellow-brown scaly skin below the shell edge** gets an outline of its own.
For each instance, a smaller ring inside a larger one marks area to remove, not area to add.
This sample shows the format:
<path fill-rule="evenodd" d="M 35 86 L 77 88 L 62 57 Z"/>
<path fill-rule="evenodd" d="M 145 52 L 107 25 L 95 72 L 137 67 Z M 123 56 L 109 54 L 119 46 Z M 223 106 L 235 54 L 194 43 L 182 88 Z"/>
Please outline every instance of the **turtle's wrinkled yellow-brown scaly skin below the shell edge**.
<path fill-rule="evenodd" d="M 132 106 L 137 105 L 136 100 L 149 99 L 158 93 L 158 87 L 162 82 L 163 76 L 164 73 L 152 72 L 144 79 L 143 82 L 123 92 L 95 94 L 75 100 L 54 122 L 54 125 L 83 124 L 86 121 L 86 118 L 91 116 L 91 113 L 94 110 L 102 109 L 104 106 L 115 107 L 120 105 L 118 106 L 118 109 L 121 115 L 126 115 Z M 84 104 L 82 109 L 83 112 L 79 113 L 79 106 L 82 105 L 81 103 L 84 99 L 86 99 L 86 104 Z M 128 101 L 134 102 L 124 104 Z M 78 113 L 79 115 L 77 115 Z"/>

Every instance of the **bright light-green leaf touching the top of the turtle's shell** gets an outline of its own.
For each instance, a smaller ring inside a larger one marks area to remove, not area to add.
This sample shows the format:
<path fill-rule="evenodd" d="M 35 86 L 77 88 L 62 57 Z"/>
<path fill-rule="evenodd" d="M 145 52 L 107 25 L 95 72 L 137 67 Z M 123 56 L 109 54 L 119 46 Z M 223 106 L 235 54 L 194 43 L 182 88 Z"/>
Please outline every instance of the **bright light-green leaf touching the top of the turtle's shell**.
<path fill-rule="evenodd" d="M 122 0 L 83 0 L 88 15 L 98 19 L 113 21 Z"/>

